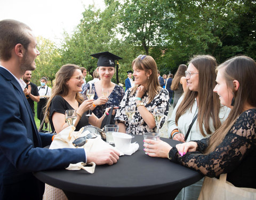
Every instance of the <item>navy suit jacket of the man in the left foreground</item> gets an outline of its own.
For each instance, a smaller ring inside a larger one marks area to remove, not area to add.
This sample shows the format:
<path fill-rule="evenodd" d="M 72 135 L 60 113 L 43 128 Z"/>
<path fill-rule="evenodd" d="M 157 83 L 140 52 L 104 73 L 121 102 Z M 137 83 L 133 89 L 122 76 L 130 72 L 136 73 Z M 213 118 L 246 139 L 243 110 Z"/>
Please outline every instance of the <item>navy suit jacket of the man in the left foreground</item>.
<path fill-rule="evenodd" d="M 0 199 L 42 199 L 44 183 L 33 173 L 85 162 L 84 149 L 47 149 L 20 84 L 0 67 Z"/>

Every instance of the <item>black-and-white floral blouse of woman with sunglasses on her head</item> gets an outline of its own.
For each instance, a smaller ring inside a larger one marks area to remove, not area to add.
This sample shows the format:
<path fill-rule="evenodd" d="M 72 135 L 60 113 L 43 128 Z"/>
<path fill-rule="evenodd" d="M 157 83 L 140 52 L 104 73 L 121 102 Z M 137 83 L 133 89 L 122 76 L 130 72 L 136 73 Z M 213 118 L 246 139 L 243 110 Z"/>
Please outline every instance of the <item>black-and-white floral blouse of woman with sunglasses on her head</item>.
<path fill-rule="evenodd" d="M 129 129 L 129 122 L 128 122 L 127 116 L 125 114 L 124 108 L 127 105 L 136 105 L 136 103 L 134 101 L 135 95 L 136 95 L 136 93 L 131 95 L 131 88 L 129 88 L 126 91 L 124 98 L 121 101 L 121 104 L 119 106 L 119 109 L 117 110 L 116 117 L 115 117 L 115 120 L 118 123 L 122 122 L 125 124 L 127 133 L 130 132 L 130 129 Z M 155 96 L 155 98 L 151 102 L 146 104 L 146 102 L 148 101 L 148 92 L 147 92 L 146 94 L 144 94 L 142 96 L 141 101 L 144 103 L 144 105 L 148 109 L 148 111 L 152 114 L 153 114 L 153 110 L 155 107 L 165 108 L 164 117 L 162 118 L 161 124 L 159 126 L 159 128 L 161 128 L 165 122 L 165 119 L 167 118 L 168 111 L 169 111 L 169 106 L 168 106 L 169 93 L 168 93 L 168 91 L 162 88 L 161 91 Z M 131 130 L 132 130 L 132 134 L 143 134 L 143 133 L 147 133 L 147 132 L 157 132 L 157 127 L 155 126 L 154 129 L 150 129 L 148 127 L 148 125 L 146 124 L 146 122 L 141 117 L 141 115 L 136 107 L 135 114 L 131 121 Z"/>

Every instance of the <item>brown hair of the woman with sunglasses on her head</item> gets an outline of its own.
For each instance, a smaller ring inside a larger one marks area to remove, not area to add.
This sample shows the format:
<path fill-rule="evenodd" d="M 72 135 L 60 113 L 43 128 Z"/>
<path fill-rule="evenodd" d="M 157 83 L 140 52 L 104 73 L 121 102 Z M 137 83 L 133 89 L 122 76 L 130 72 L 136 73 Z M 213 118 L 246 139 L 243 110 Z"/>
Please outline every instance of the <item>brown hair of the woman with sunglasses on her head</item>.
<path fill-rule="evenodd" d="M 132 66 L 134 66 L 136 69 L 145 70 L 146 73 L 149 73 L 149 69 L 151 70 L 151 75 L 148 79 L 148 85 L 146 88 L 146 91 L 148 92 L 148 102 L 152 101 L 156 94 L 161 90 L 161 87 L 158 83 L 157 78 L 157 65 L 154 58 L 152 58 L 150 55 L 147 55 L 143 60 L 139 58 L 136 58 L 132 61 Z M 139 85 L 135 85 L 131 91 L 131 94 L 133 95 L 137 87 Z"/>

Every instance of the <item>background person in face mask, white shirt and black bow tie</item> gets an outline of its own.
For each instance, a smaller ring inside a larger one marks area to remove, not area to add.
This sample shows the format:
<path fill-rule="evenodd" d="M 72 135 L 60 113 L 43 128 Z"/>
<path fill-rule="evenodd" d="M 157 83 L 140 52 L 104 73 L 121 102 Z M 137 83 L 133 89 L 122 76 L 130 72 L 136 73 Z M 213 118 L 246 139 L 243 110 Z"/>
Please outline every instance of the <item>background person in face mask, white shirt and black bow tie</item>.
<path fill-rule="evenodd" d="M 51 96 L 51 87 L 47 86 L 47 78 L 46 77 L 42 77 L 40 79 L 40 84 L 41 86 L 38 86 L 38 93 L 40 96 L 40 100 L 37 103 L 37 118 L 40 120 L 40 124 L 42 123 L 43 119 L 44 119 L 44 107 L 46 106 L 47 103 L 47 99 L 50 98 Z M 44 128 L 47 129 L 47 123 L 44 123 Z"/>

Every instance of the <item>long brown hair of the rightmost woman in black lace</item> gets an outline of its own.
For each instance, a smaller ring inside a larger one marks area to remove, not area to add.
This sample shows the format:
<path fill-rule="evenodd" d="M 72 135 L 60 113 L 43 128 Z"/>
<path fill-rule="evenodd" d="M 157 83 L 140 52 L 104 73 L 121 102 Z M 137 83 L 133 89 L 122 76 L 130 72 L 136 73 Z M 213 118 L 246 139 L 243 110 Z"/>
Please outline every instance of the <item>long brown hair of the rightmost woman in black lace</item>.
<path fill-rule="evenodd" d="M 226 79 L 227 90 L 231 89 L 234 93 L 235 102 L 226 121 L 211 135 L 205 154 L 211 153 L 220 145 L 231 126 L 234 125 L 237 117 L 243 113 L 244 103 L 256 107 L 256 62 L 249 57 L 241 55 L 223 62 L 217 68 L 217 71 L 220 69 L 222 69 L 221 72 Z M 239 82 L 237 91 L 234 90 L 234 80 Z"/>

